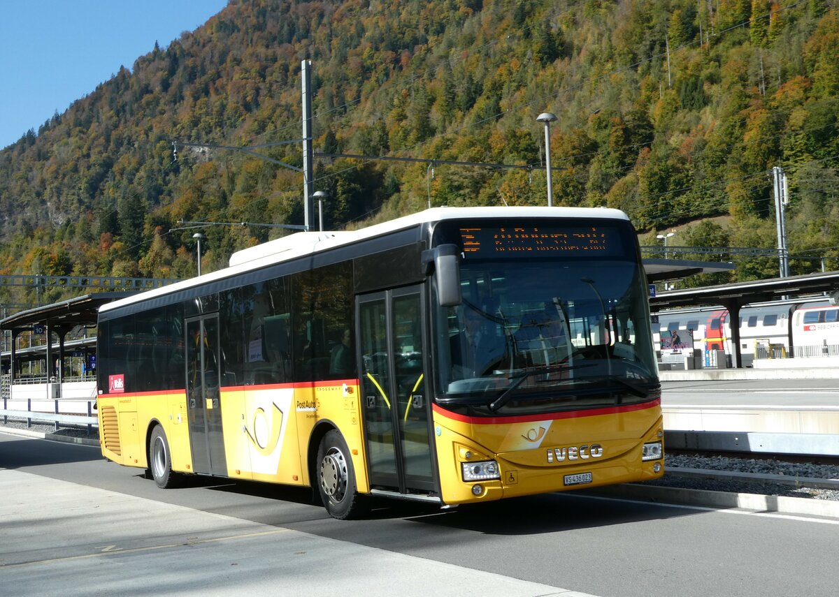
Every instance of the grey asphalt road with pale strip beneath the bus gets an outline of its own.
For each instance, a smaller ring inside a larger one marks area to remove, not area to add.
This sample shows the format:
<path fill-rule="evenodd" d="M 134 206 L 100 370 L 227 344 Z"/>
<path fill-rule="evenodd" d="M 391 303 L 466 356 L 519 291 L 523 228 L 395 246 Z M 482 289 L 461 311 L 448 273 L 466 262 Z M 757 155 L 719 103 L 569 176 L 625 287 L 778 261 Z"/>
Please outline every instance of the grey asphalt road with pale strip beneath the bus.
<path fill-rule="evenodd" d="M 832 594 L 839 520 L 551 494 L 340 522 L 309 492 L 162 491 L 98 449 L 0 433 L 0 586 L 31 594 Z"/>

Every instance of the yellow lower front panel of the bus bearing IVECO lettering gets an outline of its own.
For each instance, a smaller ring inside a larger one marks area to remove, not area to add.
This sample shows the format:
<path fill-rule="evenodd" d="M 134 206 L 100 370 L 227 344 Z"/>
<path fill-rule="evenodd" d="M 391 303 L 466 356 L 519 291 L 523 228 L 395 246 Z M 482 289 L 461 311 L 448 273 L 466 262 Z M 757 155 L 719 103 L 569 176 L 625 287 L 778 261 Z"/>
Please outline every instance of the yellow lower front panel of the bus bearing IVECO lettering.
<path fill-rule="evenodd" d="M 649 480 L 655 462 L 641 462 L 641 444 L 658 441 L 660 408 L 526 423 L 477 424 L 435 409 L 442 499 L 447 504 L 527 496 L 579 487 Z M 550 452 L 550 455 L 549 455 Z M 571 457 L 573 454 L 573 458 Z M 560 458 L 561 456 L 561 458 Z M 499 480 L 463 481 L 461 464 L 494 459 Z M 656 461 L 663 465 L 663 461 Z M 565 486 L 565 475 L 591 473 L 591 483 Z M 473 485 L 481 485 L 475 496 Z"/>

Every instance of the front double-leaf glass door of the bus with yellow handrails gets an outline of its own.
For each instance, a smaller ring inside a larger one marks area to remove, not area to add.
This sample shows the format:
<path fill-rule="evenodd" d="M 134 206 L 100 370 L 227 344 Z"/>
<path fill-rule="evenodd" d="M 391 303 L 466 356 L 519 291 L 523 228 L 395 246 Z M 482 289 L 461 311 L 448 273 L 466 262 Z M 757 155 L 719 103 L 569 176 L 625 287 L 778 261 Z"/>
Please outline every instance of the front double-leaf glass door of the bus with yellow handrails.
<path fill-rule="evenodd" d="M 437 488 L 420 289 L 368 294 L 357 302 L 370 485 L 403 495 L 429 495 Z"/>

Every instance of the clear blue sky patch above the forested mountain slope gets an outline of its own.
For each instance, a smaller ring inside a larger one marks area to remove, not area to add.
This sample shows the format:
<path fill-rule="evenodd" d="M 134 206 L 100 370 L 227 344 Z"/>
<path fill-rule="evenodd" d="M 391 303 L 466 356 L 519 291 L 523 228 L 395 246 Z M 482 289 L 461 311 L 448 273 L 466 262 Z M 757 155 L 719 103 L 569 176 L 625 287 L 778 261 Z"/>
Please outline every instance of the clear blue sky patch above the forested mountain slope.
<path fill-rule="evenodd" d="M 0 148 L 227 0 L 0 0 Z"/>

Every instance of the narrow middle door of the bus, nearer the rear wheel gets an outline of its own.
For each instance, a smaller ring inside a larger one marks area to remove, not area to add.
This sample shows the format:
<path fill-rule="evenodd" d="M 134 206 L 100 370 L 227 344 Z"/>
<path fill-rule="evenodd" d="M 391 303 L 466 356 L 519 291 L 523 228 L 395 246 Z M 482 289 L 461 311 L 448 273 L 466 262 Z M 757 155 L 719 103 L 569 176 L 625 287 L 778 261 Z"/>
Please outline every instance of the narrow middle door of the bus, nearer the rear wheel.
<path fill-rule="evenodd" d="M 202 475 L 227 475 L 221 436 L 221 360 L 218 316 L 186 321 L 186 407 L 192 467 Z"/>

